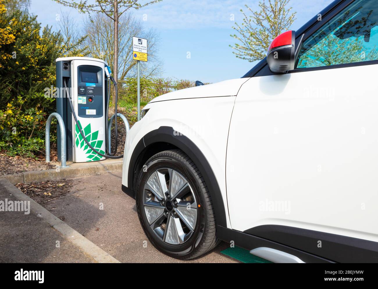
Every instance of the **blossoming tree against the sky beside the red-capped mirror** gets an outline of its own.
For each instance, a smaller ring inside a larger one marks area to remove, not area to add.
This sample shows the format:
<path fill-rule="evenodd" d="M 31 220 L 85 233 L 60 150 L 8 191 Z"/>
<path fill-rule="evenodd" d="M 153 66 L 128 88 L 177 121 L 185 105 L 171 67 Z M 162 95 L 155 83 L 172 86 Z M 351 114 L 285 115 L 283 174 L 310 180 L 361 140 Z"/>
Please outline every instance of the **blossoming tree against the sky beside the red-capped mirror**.
<path fill-rule="evenodd" d="M 266 56 L 266 51 L 272 40 L 279 36 L 283 31 L 289 30 L 295 20 L 295 14 L 291 13 L 291 7 L 286 8 L 290 0 L 263 0 L 259 2 L 260 11 L 252 11 L 248 5 L 245 7 L 251 12 L 247 16 L 243 13 L 243 23 L 232 26 L 239 35 L 230 35 L 240 43 L 235 46 L 229 45 L 235 51 L 232 51 L 237 58 L 254 62 L 261 60 Z"/>

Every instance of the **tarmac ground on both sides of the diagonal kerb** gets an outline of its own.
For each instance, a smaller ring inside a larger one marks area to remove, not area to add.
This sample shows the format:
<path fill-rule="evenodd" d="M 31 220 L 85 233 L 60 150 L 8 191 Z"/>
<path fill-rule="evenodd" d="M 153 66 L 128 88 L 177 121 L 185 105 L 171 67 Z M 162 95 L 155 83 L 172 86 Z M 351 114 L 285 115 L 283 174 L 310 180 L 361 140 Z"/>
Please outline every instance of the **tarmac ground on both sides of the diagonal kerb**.
<path fill-rule="evenodd" d="M 14 197 L 0 187 L 0 200 L 5 198 Z M 135 200 L 121 190 L 121 172 L 76 178 L 70 193 L 45 208 L 120 262 L 239 263 L 220 253 L 229 246 L 224 242 L 191 261 L 156 250 L 139 223 Z M 0 227 L 0 262 L 95 262 L 33 213 L 0 212 Z"/>

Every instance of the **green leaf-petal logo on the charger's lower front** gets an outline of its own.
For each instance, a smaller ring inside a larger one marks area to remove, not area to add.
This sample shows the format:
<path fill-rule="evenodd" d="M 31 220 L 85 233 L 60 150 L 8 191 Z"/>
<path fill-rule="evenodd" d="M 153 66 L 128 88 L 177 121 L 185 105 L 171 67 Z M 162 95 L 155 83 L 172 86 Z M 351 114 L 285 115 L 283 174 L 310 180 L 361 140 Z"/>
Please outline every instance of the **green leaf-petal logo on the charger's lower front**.
<path fill-rule="evenodd" d="M 80 121 L 79 122 L 79 125 L 80 125 L 80 129 L 82 129 L 82 126 L 81 126 L 81 123 Z M 102 159 L 102 156 L 98 155 L 98 153 L 95 153 L 91 148 L 88 147 L 88 145 L 85 143 L 83 137 L 81 136 L 81 133 L 79 131 L 79 127 L 77 127 L 77 125 L 75 125 L 75 132 L 76 132 L 76 136 L 75 136 L 75 145 L 77 148 L 79 148 L 79 145 L 80 145 L 80 148 L 85 151 L 85 154 L 87 155 L 87 158 L 88 158 L 88 161 L 87 162 L 92 162 L 92 161 L 99 161 L 100 159 Z M 95 131 L 95 132 L 91 132 L 91 124 L 88 124 L 85 128 L 84 128 L 84 135 L 85 135 L 85 139 L 90 143 L 90 145 L 94 148 L 98 148 L 98 152 L 99 153 L 102 153 L 102 154 L 105 154 L 105 151 L 103 150 L 100 150 L 101 146 L 102 146 L 102 143 L 104 141 L 100 141 L 100 140 L 97 140 L 98 138 L 98 131 Z"/>

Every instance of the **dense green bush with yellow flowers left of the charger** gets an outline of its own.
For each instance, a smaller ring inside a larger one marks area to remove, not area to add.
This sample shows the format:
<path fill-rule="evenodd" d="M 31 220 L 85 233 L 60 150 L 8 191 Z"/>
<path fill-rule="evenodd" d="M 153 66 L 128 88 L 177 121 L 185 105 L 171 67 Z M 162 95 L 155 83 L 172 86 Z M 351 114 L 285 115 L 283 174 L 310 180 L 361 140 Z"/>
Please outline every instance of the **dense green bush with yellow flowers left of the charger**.
<path fill-rule="evenodd" d="M 44 152 L 46 119 L 56 107 L 55 99 L 44 95 L 56 82 L 55 60 L 84 56 L 87 48 L 78 48 L 83 39 L 66 46 L 60 32 L 48 26 L 41 33 L 36 16 L 7 13 L 5 3 L 0 0 L 0 150 L 36 157 Z"/>

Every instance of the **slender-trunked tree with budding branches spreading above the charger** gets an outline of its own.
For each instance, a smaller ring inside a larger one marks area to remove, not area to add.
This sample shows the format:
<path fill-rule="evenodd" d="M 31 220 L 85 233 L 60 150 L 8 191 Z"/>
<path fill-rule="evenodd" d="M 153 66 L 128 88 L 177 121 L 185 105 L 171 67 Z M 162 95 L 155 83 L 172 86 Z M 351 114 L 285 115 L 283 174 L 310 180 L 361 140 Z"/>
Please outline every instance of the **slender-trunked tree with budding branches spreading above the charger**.
<path fill-rule="evenodd" d="M 139 9 L 145 7 L 147 5 L 160 2 L 161 0 L 147 0 L 146 2 L 142 2 L 141 0 L 95 0 L 95 4 L 88 4 L 88 0 L 79 0 L 76 2 L 74 0 L 54 0 L 57 3 L 62 5 L 78 9 L 79 12 L 82 13 L 90 13 L 97 12 L 103 13 L 107 17 L 113 20 L 113 31 L 114 31 L 114 64 L 113 64 L 113 74 L 114 79 L 118 81 L 118 51 L 119 51 L 119 19 L 127 10 L 130 8 Z M 113 96 L 114 98 L 114 96 Z M 115 99 L 113 99 L 113 102 Z"/>

